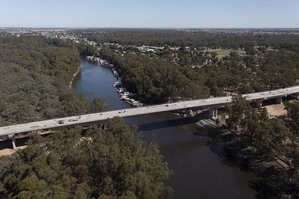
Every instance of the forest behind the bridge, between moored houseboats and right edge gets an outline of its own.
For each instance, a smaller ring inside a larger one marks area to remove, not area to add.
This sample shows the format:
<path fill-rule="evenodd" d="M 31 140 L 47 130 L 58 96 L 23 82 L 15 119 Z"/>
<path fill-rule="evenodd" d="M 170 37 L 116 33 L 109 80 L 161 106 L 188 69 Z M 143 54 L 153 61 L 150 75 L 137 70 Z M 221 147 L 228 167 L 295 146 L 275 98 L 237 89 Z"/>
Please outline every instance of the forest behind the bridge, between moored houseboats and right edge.
<path fill-rule="evenodd" d="M 296 85 L 299 75 L 299 53 L 292 51 L 270 51 L 258 57 L 241 57 L 232 51 L 218 61 L 213 52 L 187 51 L 184 46 L 156 54 L 133 50 L 117 54 L 114 49 L 102 48 L 100 55 L 115 65 L 131 92 L 154 103 L 279 89 Z M 201 67 L 192 68 L 190 64 L 208 60 L 211 64 Z"/>

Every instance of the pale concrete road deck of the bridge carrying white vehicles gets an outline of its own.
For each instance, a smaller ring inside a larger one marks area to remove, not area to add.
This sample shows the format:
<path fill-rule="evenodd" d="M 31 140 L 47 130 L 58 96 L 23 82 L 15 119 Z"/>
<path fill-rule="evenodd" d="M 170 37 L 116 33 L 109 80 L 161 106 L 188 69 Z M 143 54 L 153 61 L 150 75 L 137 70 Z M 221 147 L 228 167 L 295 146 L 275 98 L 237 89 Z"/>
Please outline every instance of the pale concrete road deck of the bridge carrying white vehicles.
<path fill-rule="evenodd" d="M 246 95 L 250 95 L 247 100 L 254 99 L 267 99 L 267 98 L 275 98 L 275 97 L 283 97 L 286 95 L 292 95 L 299 93 L 299 86 L 292 86 L 285 89 L 278 89 L 273 91 L 266 91 L 266 94 L 262 94 L 262 92 L 250 93 L 242 95 L 245 97 Z M 216 97 L 216 98 L 206 98 L 200 100 L 191 100 L 191 101 L 182 101 L 171 103 L 167 107 L 166 104 L 157 104 L 149 106 L 150 108 L 140 107 L 140 108 L 129 108 L 124 109 L 125 113 L 118 113 L 119 110 L 107 111 L 102 113 L 93 113 L 88 115 L 82 115 L 81 118 L 77 121 L 69 122 L 68 120 L 71 117 L 64 117 L 59 119 L 52 120 L 44 120 L 32 123 L 24 123 L 17 124 L 11 126 L 3 126 L 0 127 L 0 136 L 12 135 L 20 132 L 28 132 L 33 130 L 41 130 L 41 129 L 51 129 L 57 128 L 61 126 L 76 126 L 76 125 L 84 125 L 84 123 L 92 123 L 95 121 L 107 120 L 107 118 L 113 118 L 115 116 L 120 117 L 128 117 L 134 115 L 142 115 L 147 113 L 156 113 L 162 111 L 171 111 L 171 110 L 180 110 L 180 109 L 191 109 L 191 108 L 200 108 L 200 107 L 219 107 L 222 104 L 231 102 L 231 96 L 225 97 Z M 186 104 L 190 104 L 190 106 L 185 106 Z M 64 124 L 58 124 L 58 120 L 65 120 Z"/>

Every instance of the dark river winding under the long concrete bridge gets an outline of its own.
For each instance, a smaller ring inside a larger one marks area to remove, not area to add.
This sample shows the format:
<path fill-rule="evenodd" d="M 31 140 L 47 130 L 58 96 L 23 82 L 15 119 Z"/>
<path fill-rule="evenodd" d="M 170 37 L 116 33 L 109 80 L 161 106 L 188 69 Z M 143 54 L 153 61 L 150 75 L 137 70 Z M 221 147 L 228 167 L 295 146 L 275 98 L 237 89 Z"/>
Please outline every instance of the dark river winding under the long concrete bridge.
<path fill-rule="evenodd" d="M 76 93 L 92 100 L 107 99 L 110 110 L 131 107 L 119 100 L 112 87 L 116 82 L 109 67 L 81 58 L 81 70 L 74 78 Z M 144 132 L 144 140 L 156 134 L 164 161 L 173 175 L 165 182 L 174 188 L 175 198 L 256 198 L 260 178 L 235 151 L 194 123 L 192 118 L 169 112 L 151 113 L 125 119 Z"/>

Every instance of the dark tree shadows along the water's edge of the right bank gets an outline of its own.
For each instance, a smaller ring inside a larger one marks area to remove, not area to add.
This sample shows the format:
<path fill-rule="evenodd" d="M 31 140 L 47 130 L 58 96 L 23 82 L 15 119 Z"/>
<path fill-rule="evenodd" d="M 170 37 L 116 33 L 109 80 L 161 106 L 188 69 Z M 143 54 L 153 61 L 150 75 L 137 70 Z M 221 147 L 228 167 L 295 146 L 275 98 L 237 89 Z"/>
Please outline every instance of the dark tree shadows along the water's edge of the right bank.
<path fill-rule="evenodd" d="M 222 128 L 221 128 L 222 129 Z M 209 131 L 209 129 L 206 129 Z M 215 129 L 214 129 L 215 130 Z M 219 129 L 220 130 L 220 129 Z M 224 130 L 224 129 L 222 129 Z M 255 196 L 257 198 L 283 198 L 285 193 L 279 189 L 270 179 L 266 179 L 260 176 L 260 171 L 258 171 L 250 162 L 255 160 L 255 162 L 265 161 L 264 158 L 258 157 L 257 154 L 246 150 L 247 145 L 239 142 L 234 142 L 232 145 L 227 144 L 224 141 L 229 141 L 234 137 L 232 134 L 225 134 L 220 139 L 216 133 L 203 132 L 201 128 L 196 129 L 193 132 L 196 136 L 208 136 L 212 138 L 206 141 L 205 145 L 209 147 L 209 150 L 218 155 L 218 159 L 221 163 L 228 165 L 234 169 L 240 169 L 245 173 L 254 173 L 259 179 L 249 180 L 248 186 L 254 189 L 257 193 Z M 241 154 L 241 150 L 243 150 Z M 246 157 L 244 157 L 246 154 Z M 278 175 L 277 170 L 274 168 L 268 168 L 267 171 L 263 171 L 267 175 Z"/>

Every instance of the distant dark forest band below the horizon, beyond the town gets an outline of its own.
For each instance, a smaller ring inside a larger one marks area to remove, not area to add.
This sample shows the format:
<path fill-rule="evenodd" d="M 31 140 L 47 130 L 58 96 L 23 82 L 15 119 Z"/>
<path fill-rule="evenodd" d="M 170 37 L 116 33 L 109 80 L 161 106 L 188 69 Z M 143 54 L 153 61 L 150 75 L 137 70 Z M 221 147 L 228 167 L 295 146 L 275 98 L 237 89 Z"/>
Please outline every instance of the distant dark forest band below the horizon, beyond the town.
<path fill-rule="evenodd" d="M 95 31 L 95 30 L 94 30 Z M 245 48 L 246 46 L 273 46 L 275 49 L 299 50 L 299 36 L 294 34 L 224 33 L 206 31 L 181 31 L 161 29 L 101 29 L 87 36 L 96 43 L 150 46 L 218 46 L 222 48 Z M 86 32 L 86 31 L 84 31 Z"/>

